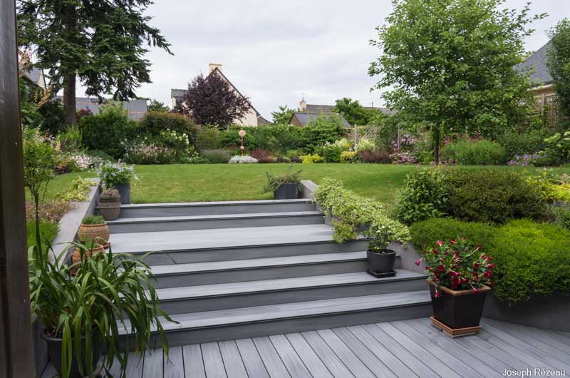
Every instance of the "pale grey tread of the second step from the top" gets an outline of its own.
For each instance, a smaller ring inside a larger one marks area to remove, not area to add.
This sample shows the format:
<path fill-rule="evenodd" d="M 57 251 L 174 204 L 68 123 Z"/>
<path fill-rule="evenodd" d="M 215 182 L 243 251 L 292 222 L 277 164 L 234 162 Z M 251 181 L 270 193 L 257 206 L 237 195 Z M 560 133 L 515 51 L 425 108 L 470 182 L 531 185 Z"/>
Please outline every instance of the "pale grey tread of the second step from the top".
<path fill-rule="evenodd" d="M 263 218 L 300 218 L 300 217 L 323 217 L 320 211 L 296 211 L 282 213 L 245 213 L 245 214 L 221 214 L 221 215 L 177 215 L 172 217 L 148 217 L 148 218 L 119 218 L 108 220 L 108 225 L 130 225 L 136 223 L 169 223 L 169 222 L 196 222 L 203 220 L 245 220 Z"/>

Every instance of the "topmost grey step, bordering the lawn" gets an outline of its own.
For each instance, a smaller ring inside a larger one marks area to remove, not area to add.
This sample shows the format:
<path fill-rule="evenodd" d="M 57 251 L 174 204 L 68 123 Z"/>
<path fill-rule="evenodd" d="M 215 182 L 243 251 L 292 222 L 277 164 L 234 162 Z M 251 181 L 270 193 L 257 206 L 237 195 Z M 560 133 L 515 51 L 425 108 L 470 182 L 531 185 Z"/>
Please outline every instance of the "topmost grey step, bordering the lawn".
<path fill-rule="evenodd" d="M 314 211 L 315 204 L 307 199 L 250 200 L 189 203 L 135 203 L 121 205 L 121 218 L 151 218 L 189 215 L 222 215 L 249 213 L 289 213 Z"/>

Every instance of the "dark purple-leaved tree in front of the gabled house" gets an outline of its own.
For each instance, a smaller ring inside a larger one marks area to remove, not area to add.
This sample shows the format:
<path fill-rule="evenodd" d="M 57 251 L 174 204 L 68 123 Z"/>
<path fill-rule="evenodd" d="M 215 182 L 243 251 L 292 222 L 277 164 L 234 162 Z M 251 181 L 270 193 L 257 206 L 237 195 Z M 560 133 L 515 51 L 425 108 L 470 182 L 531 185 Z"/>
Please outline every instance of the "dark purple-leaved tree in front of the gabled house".
<path fill-rule="evenodd" d="M 188 90 L 176 103 L 175 112 L 190 116 L 198 125 L 226 127 L 242 118 L 251 105 L 219 74 L 202 73 L 192 79 Z"/>

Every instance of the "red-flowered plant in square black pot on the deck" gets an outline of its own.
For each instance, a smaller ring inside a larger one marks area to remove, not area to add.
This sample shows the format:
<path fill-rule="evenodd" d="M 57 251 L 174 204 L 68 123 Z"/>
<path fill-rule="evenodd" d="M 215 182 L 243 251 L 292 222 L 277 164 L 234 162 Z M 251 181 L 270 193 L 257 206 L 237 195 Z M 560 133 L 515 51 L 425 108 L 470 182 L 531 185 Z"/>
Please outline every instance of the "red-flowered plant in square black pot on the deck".
<path fill-rule="evenodd" d="M 492 257 L 471 245 L 465 237 L 437 240 L 416 261 L 420 265 L 425 260 L 433 317 L 451 330 L 479 327 L 485 297 L 491 290 L 484 284 L 493 285 Z"/>

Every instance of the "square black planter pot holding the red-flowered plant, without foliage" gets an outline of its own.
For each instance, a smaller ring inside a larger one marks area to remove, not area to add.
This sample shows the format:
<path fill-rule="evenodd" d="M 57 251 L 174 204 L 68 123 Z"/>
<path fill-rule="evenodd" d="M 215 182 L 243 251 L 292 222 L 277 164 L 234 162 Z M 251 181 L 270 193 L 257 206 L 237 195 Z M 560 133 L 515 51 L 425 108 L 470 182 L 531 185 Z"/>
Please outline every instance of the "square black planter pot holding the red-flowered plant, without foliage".
<path fill-rule="evenodd" d="M 490 287 L 484 286 L 475 293 L 473 290 L 451 290 L 438 286 L 439 297 L 435 297 L 435 284 L 427 280 L 430 285 L 432 297 L 433 316 L 452 329 L 477 327 L 481 322 L 481 315 L 485 304 L 487 292 Z"/>

